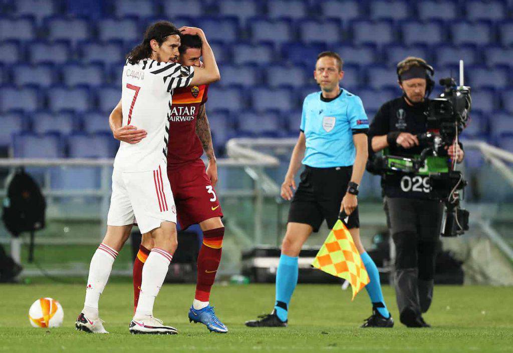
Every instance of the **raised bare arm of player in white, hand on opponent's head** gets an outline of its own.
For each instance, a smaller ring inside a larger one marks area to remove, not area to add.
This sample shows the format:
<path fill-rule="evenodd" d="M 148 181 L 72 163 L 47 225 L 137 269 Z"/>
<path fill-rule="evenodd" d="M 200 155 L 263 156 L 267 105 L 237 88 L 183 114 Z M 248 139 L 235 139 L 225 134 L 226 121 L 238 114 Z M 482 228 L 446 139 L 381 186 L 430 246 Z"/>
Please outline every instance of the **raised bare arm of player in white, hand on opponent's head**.
<path fill-rule="evenodd" d="M 218 64 L 215 62 L 214 52 L 208 44 L 207 37 L 203 30 L 195 27 L 180 28 L 182 34 L 199 35 L 203 44 L 201 47 L 203 55 L 203 67 L 194 68 L 194 76 L 191 85 L 206 85 L 221 80 Z"/>

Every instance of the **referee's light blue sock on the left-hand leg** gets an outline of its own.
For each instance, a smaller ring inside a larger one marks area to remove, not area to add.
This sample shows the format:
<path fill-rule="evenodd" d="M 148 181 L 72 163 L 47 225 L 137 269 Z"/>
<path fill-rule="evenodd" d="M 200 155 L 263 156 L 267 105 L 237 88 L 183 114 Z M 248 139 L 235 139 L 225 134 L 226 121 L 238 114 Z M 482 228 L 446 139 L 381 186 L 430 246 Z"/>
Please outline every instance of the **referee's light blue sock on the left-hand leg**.
<path fill-rule="evenodd" d="M 274 310 L 281 321 L 287 321 L 287 310 L 290 298 L 298 284 L 298 257 L 285 254 L 280 256 L 280 264 L 276 271 L 276 303 Z"/>

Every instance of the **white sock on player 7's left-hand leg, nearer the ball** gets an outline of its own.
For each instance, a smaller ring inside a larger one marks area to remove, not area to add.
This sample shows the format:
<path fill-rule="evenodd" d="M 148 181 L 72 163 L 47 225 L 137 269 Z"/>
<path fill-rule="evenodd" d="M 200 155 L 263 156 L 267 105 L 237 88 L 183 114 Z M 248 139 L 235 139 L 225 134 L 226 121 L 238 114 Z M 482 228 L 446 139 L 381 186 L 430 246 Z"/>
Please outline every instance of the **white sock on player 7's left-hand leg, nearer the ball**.
<path fill-rule="evenodd" d="M 112 264 L 116 259 L 117 251 L 103 243 L 98 246 L 89 265 L 87 278 L 86 300 L 83 312 L 93 318 L 98 317 L 98 301 L 109 280 Z"/>

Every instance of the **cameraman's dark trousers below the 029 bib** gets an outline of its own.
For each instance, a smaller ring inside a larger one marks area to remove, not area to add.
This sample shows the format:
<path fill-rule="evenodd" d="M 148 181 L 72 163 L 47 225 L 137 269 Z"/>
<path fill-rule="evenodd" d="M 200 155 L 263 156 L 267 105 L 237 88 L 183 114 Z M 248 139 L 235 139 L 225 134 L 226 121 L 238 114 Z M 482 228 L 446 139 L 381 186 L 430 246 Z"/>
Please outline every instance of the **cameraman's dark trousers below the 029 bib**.
<path fill-rule="evenodd" d="M 400 318 L 420 317 L 431 305 L 443 209 L 439 201 L 385 197 Z"/>

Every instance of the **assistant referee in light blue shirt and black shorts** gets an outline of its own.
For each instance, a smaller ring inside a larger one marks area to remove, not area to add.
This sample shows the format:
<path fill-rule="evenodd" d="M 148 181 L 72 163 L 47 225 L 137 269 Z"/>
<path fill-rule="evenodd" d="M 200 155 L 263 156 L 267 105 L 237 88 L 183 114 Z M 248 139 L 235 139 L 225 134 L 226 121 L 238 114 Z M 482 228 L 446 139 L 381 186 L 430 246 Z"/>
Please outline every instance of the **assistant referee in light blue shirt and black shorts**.
<path fill-rule="evenodd" d="M 376 264 L 360 241 L 358 184 L 367 162 L 368 120 L 361 99 L 339 86 L 344 77 L 343 61 L 337 53 L 319 54 L 314 77 L 321 92 L 303 102 L 301 132 L 282 184 L 281 196 L 292 200 L 287 232 L 276 275 L 276 300 L 269 315 L 247 321 L 249 327 L 285 327 L 288 304 L 298 282 L 298 256 L 312 232 L 326 220 L 329 228 L 339 213 L 349 215 L 347 227 L 369 273 L 365 287 L 372 302 L 372 315 L 362 327 L 392 327 L 393 320 L 383 300 Z M 301 168 L 301 183 L 295 194 L 294 176 Z"/>

